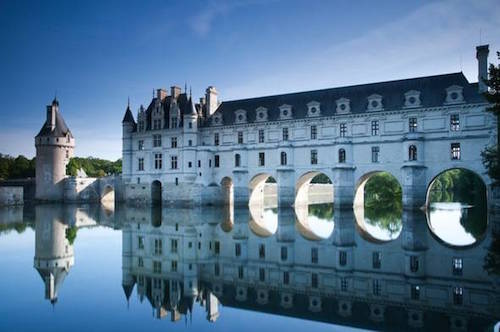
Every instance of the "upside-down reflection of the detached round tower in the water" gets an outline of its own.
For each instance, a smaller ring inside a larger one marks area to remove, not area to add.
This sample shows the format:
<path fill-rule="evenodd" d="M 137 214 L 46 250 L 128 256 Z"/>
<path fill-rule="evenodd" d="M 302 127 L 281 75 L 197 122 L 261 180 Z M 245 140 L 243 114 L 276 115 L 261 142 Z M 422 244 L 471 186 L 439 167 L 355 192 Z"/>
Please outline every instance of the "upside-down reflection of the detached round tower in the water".
<path fill-rule="evenodd" d="M 74 264 L 73 245 L 68 225 L 59 209 L 36 207 L 34 268 L 45 283 L 45 298 L 57 301 L 59 288 Z"/>

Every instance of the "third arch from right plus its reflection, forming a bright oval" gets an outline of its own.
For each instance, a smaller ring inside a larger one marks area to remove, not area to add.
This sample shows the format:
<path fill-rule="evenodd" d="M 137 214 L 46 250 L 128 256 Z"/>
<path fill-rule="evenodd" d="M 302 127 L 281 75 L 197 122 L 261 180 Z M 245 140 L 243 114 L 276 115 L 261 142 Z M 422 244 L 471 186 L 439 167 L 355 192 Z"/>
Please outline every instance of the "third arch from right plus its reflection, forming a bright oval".
<path fill-rule="evenodd" d="M 297 229 L 309 240 L 323 240 L 333 233 L 333 183 L 321 172 L 308 172 L 295 188 Z"/>

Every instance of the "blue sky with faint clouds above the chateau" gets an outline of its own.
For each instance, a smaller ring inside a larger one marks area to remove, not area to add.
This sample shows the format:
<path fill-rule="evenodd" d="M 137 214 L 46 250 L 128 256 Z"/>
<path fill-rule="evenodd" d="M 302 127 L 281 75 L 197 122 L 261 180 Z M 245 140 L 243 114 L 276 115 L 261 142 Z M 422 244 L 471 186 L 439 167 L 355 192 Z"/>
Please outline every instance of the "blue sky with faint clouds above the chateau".
<path fill-rule="evenodd" d="M 463 71 L 500 50 L 500 2 L 0 1 L 0 152 L 35 154 L 57 91 L 76 155 L 121 156 L 127 98 L 222 100 Z M 481 33 L 480 33 L 481 31 Z"/>

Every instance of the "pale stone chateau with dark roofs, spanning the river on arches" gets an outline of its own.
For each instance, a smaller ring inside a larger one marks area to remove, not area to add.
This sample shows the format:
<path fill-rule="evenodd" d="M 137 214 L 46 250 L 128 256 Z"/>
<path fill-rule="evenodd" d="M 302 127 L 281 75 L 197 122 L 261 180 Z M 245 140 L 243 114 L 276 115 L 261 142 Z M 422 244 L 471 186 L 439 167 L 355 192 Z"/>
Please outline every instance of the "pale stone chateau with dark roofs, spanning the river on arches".
<path fill-rule="evenodd" d="M 335 206 L 362 200 L 371 175 L 392 174 L 403 204 L 426 203 L 436 176 L 466 168 L 489 186 L 480 151 L 496 139 L 487 87 L 488 45 L 477 47 L 478 83 L 463 73 L 251 99 L 199 101 L 172 87 L 123 118 L 123 198 L 204 205 L 260 202 L 276 182 L 279 206 L 307 199 L 317 174 Z"/>

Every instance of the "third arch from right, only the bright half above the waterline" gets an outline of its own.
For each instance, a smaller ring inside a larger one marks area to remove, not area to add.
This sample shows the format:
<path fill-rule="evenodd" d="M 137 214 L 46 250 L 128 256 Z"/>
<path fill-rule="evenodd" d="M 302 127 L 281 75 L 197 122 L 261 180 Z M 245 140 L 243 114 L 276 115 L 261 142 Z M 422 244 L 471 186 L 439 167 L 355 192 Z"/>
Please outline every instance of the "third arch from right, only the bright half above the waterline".
<path fill-rule="evenodd" d="M 315 189 L 311 191 L 311 181 L 317 175 L 324 175 L 328 178 L 329 183 L 317 184 Z M 310 195 L 318 197 L 310 197 Z M 333 184 L 331 179 L 322 172 L 311 171 L 303 174 L 295 185 L 295 206 L 307 205 L 308 203 L 332 203 L 333 202 Z"/>

